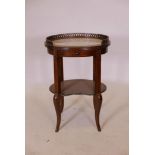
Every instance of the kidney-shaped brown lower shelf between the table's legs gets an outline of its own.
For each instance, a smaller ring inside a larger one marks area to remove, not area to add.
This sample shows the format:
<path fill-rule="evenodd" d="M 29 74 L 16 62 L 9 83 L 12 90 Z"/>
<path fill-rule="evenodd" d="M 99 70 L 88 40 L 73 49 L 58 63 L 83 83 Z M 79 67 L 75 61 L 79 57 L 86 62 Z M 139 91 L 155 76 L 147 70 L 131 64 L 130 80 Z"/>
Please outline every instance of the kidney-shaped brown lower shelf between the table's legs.
<path fill-rule="evenodd" d="M 49 88 L 55 93 L 54 84 Z M 101 93 L 106 91 L 106 85 L 101 83 Z M 94 81 L 85 79 L 65 80 L 61 83 L 61 94 L 68 95 L 94 95 Z"/>

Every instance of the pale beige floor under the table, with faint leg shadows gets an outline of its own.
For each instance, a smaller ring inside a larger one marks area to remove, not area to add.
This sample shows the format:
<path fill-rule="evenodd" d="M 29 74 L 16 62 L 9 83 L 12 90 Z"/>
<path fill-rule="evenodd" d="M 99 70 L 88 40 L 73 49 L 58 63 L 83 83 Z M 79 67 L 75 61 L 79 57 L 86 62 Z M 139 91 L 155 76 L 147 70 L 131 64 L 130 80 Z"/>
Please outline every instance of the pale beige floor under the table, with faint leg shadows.
<path fill-rule="evenodd" d="M 53 95 L 47 86 L 26 93 L 26 155 L 128 155 L 128 85 L 107 82 L 100 113 L 92 96 L 65 97 L 60 131 L 55 133 Z"/>

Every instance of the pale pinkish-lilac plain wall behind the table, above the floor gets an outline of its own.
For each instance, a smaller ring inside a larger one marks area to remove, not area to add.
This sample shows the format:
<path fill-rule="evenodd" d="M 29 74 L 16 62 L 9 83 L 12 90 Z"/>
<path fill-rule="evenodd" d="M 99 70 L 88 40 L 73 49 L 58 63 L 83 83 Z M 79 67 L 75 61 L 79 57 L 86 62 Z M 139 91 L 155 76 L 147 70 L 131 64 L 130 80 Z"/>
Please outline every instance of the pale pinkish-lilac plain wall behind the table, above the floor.
<path fill-rule="evenodd" d="M 26 0 L 26 85 L 53 80 L 53 59 L 44 41 L 68 32 L 109 35 L 102 79 L 128 83 L 128 26 L 128 0 Z M 91 61 L 65 58 L 65 78 L 92 78 Z"/>

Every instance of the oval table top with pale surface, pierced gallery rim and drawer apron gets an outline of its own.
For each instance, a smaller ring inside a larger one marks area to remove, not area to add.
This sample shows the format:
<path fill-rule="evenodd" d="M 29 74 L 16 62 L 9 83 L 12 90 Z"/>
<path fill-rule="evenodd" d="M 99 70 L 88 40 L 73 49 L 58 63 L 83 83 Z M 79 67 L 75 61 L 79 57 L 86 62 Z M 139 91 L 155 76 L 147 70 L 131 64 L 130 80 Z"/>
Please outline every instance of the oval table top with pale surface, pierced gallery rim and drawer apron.
<path fill-rule="evenodd" d="M 95 51 L 101 54 L 107 52 L 110 40 L 107 35 L 92 33 L 66 33 L 48 36 L 45 46 L 48 53 L 54 55 L 59 52 L 61 56 L 92 56 Z"/>

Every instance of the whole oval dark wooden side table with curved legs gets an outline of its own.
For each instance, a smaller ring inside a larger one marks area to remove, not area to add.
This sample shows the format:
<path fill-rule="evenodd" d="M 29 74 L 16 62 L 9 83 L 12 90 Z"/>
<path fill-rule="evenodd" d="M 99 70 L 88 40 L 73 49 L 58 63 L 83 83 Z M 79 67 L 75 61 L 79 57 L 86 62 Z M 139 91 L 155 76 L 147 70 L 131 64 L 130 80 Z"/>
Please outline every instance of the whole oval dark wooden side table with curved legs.
<path fill-rule="evenodd" d="M 46 38 L 45 46 L 54 59 L 54 84 L 49 90 L 54 93 L 53 102 L 57 115 L 55 131 L 59 131 L 61 113 L 64 107 L 64 96 L 93 95 L 95 121 L 101 131 L 99 113 L 102 95 L 106 86 L 101 83 L 101 54 L 107 52 L 109 37 L 102 34 L 67 33 L 52 35 Z M 64 80 L 63 57 L 93 57 L 93 80 Z"/>

